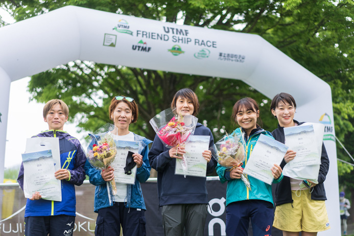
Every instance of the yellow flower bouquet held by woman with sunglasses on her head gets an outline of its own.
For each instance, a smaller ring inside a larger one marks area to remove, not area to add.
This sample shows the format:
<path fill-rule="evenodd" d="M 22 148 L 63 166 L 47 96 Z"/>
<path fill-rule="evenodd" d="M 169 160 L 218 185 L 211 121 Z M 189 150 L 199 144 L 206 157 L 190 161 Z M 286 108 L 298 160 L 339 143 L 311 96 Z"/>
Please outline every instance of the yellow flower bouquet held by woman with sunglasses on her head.
<path fill-rule="evenodd" d="M 92 167 L 101 171 L 107 169 L 111 166 L 116 154 L 116 145 L 111 133 L 89 134 L 89 136 L 92 139 L 86 154 L 88 162 L 90 162 Z M 110 183 L 112 186 L 112 194 L 115 195 L 117 188 L 114 178 Z"/>

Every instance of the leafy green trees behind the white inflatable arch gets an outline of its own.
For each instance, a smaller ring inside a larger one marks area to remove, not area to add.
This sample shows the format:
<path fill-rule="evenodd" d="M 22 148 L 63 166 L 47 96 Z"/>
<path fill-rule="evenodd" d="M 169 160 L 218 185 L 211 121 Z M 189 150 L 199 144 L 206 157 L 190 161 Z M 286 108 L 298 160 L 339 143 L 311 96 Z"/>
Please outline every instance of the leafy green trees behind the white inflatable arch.
<path fill-rule="evenodd" d="M 351 0 L 11 0 L 0 3 L 17 21 L 67 5 L 260 35 L 331 86 L 336 135 L 344 146 L 352 144 L 354 3 Z M 0 25 L 4 25 L 1 19 Z M 86 131 L 109 122 L 107 111 L 113 96 L 131 96 L 140 109 L 139 121 L 132 131 L 150 139 L 154 132 L 149 120 L 168 108 L 174 92 L 183 87 L 196 91 L 201 101 L 198 117 L 213 131 L 215 140 L 225 130 L 233 129 L 229 118 L 232 106 L 243 97 L 261 103 L 265 129 L 276 127 L 276 119 L 269 112 L 269 98 L 237 80 L 75 61 L 32 76 L 29 83 L 32 99 L 45 102 L 53 95 L 63 99 L 70 108 L 70 121 Z M 337 147 L 338 158 L 350 161 L 340 146 Z M 343 176 L 352 171 L 341 163 L 339 167 Z M 341 178 L 340 185 L 351 187 L 350 184 L 354 184 L 350 178 Z"/>

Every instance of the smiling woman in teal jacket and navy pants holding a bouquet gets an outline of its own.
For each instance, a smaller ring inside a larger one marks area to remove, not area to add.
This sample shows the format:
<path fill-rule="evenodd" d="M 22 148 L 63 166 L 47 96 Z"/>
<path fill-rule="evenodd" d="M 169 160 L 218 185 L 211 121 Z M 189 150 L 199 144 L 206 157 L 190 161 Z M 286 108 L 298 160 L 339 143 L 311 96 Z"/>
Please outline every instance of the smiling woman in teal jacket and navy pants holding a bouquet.
<path fill-rule="evenodd" d="M 259 109 L 257 103 L 251 98 L 239 100 L 233 106 L 232 120 L 241 127 L 233 134 L 244 133 L 246 160 L 242 167 L 225 168 L 218 164 L 217 173 L 222 183 L 227 183 L 226 191 L 226 235 L 248 235 L 248 225 L 251 219 L 253 235 L 271 235 L 273 224 L 273 198 L 271 185 L 248 176 L 251 190 L 241 180 L 243 168 L 247 164 L 259 135 L 272 135 L 257 124 Z M 281 168 L 274 164 L 272 168 L 274 183 L 281 181 Z"/>

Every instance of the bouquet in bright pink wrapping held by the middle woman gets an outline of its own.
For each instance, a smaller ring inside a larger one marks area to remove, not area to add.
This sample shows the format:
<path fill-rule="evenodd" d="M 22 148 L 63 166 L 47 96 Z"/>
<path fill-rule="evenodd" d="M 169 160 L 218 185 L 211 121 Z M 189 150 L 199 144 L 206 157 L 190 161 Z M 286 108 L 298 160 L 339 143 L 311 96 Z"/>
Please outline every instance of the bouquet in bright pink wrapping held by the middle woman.
<path fill-rule="evenodd" d="M 150 124 L 155 130 L 157 136 L 167 148 L 184 147 L 188 141 L 188 137 L 194 134 L 198 118 L 193 115 L 176 114 L 176 109 L 166 109 L 154 116 L 150 120 Z M 187 171 L 186 159 L 177 161 L 181 162 L 184 177 Z"/>

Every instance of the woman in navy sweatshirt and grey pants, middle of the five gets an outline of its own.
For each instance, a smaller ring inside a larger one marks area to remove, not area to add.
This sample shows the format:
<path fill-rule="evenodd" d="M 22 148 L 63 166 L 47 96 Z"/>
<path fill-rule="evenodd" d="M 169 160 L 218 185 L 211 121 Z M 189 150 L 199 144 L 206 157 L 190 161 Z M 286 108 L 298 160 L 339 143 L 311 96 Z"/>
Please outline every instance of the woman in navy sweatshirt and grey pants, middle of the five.
<path fill-rule="evenodd" d="M 178 114 L 196 115 L 198 97 L 193 90 L 183 88 L 176 92 L 171 108 L 176 108 Z M 209 149 L 214 146 L 213 134 L 202 124 L 197 123 L 194 135 L 210 136 Z M 176 158 L 182 158 L 183 154 L 184 147 L 166 148 L 157 135 L 149 152 L 151 167 L 157 171 L 164 235 L 182 236 L 185 231 L 186 236 L 202 236 L 208 204 L 206 177 L 175 175 Z M 206 173 L 212 173 L 216 160 L 211 157 L 210 150 L 205 150 L 202 155 L 207 161 Z"/>

